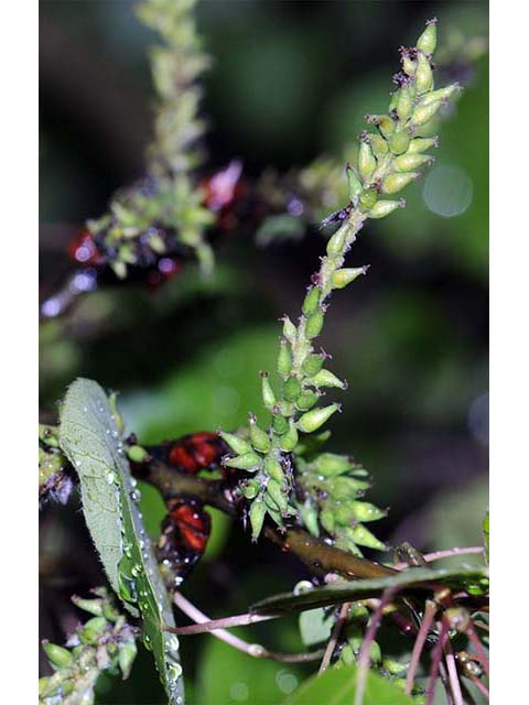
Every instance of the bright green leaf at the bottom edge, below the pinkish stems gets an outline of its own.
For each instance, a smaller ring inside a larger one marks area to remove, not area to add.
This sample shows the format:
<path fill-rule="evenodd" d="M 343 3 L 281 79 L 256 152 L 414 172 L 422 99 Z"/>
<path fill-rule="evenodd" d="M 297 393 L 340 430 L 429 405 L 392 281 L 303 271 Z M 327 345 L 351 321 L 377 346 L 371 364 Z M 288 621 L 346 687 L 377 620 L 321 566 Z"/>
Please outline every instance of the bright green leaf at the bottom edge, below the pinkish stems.
<path fill-rule="evenodd" d="M 328 669 L 305 681 L 282 705 L 350 705 L 354 702 L 358 670 L 355 665 Z M 414 701 L 396 685 L 369 671 L 363 705 L 412 705 Z"/>

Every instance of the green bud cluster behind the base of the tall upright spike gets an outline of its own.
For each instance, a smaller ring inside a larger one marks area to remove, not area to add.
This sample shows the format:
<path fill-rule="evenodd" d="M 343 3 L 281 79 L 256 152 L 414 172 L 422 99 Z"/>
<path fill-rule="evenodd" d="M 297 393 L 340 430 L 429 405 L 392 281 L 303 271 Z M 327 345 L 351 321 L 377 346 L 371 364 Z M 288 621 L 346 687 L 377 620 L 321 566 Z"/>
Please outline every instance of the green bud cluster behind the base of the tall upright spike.
<path fill-rule="evenodd" d="M 367 471 L 346 455 L 321 453 L 312 460 L 296 460 L 300 517 L 314 536 L 331 538 L 334 545 L 361 556 L 359 546 L 385 550 L 365 523 L 387 511 L 363 500 L 371 486 Z"/>

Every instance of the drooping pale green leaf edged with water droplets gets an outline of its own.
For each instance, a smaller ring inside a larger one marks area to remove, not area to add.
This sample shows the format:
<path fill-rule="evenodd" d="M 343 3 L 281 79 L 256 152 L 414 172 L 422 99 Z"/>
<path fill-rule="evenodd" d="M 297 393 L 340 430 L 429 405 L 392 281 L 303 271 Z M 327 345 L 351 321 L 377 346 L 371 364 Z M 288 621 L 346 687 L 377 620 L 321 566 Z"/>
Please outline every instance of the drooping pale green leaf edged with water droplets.
<path fill-rule="evenodd" d="M 138 509 L 107 395 L 96 382 L 77 379 L 61 409 L 61 446 L 80 480 L 86 523 L 110 585 L 126 607 L 141 616 L 143 641 L 152 651 L 170 705 L 183 703 L 179 640 L 163 631 L 174 618 L 150 540 Z"/>

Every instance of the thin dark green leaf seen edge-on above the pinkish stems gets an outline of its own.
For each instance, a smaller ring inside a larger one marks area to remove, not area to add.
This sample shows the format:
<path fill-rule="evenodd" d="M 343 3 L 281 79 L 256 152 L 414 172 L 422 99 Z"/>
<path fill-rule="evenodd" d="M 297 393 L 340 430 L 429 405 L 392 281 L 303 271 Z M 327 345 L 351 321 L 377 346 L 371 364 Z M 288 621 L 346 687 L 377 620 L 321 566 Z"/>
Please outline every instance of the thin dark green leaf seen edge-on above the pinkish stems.
<path fill-rule="evenodd" d="M 417 585 L 418 583 L 421 583 L 421 585 Z M 294 595 L 294 593 L 273 595 L 252 605 L 250 610 L 260 615 L 303 611 L 326 605 L 378 597 L 388 587 L 417 589 L 425 583 L 442 583 L 449 587 L 461 589 L 472 586 L 486 592 L 488 587 L 488 571 L 486 567 L 481 568 L 479 566 L 438 570 L 408 568 L 389 577 L 368 581 L 337 581 L 299 595 Z"/>

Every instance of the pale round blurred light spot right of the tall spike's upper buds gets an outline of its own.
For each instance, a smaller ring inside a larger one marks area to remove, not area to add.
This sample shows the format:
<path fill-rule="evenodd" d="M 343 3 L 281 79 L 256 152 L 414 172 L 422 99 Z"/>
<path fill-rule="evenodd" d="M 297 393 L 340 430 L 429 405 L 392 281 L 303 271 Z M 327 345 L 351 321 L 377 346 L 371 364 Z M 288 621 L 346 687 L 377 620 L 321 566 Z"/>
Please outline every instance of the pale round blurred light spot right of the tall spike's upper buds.
<path fill-rule="evenodd" d="M 474 186 L 460 166 L 443 164 L 424 181 L 422 197 L 428 208 L 444 218 L 461 216 L 472 203 Z"/>

